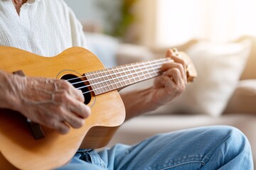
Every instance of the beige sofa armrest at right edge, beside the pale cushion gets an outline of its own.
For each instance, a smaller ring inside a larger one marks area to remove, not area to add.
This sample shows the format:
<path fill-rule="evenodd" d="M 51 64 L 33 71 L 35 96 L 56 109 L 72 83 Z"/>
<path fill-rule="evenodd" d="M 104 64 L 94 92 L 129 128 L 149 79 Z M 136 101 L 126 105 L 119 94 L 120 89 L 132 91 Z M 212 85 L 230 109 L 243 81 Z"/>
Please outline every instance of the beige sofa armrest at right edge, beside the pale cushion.
<path fill-rule="evenodd" d="M 241 80 L 231 96 L 224 113 L 253 113 L 256 115 L 256 79 Z"/>

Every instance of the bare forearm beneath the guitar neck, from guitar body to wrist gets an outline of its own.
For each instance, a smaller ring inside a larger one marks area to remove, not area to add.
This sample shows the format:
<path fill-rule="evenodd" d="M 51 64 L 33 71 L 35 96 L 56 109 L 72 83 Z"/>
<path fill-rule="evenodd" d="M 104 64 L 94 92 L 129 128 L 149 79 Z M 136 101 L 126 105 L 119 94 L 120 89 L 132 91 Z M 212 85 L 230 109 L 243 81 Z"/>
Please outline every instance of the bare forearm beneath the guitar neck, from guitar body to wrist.
<path fill-rule="evenodd" d="M 143 113 L 154 111 L 159 104 L 154 101 L 153 89 L 144 89 L 141 91 L 130 91 L 126 94 L 120 94 L 126 110 L 126 120 Z"/>

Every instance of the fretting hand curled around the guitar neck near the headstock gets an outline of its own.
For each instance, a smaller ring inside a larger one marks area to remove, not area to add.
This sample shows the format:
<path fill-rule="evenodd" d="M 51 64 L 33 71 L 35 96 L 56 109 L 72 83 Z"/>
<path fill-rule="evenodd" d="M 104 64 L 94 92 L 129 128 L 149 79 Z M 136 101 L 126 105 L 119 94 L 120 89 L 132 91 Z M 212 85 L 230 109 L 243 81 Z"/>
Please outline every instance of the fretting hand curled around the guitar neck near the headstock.
<path fill-rule="evenodd" d="M 164 74 L 156 77 L 152 95 L 154 103 L 160 106 L 180 95 L 187 84 L 185 61 L 178 57 L 173 50 L 168 50 L 166 57 L 170 57 L 174 62 L 163 64 L 161 71 Z"/>

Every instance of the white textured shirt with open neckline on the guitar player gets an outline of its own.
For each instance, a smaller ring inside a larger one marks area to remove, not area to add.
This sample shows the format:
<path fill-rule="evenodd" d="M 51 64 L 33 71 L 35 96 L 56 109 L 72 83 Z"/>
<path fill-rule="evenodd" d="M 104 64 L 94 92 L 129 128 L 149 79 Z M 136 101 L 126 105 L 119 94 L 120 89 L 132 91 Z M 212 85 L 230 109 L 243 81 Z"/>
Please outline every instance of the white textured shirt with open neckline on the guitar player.
<path fill-rule="evenodd" d="M 63 0 L 28 0 L 19 16 L 11 0 L 0 0 L 0 45 L 49 57 L 86 42 L 80 22 Z"/>

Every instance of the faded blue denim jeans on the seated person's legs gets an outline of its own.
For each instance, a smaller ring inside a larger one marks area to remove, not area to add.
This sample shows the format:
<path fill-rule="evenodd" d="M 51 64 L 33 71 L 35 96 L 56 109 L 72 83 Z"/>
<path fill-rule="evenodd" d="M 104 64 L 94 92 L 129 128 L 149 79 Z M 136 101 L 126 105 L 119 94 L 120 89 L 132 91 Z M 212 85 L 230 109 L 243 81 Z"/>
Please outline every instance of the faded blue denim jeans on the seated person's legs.
<path fill-rule="evenodd" d="M 253 170 L 250 144 L 240 130 L 212 126 L 156 135 L 134 146 L 84 149 L 58 170 Z"/>

